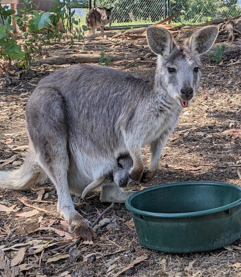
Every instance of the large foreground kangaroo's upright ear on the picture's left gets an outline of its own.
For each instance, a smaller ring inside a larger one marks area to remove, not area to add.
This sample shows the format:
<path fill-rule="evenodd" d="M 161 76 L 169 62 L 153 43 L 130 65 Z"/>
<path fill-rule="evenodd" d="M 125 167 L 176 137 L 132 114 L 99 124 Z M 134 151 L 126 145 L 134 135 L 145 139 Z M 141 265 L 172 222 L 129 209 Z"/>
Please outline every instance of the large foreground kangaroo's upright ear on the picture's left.
<path fill-rule="evenodd" d="M 160 27 L 147 28 L 147 43 L 153 53 L 163 57 L 168 56 L 175 47 L 171 33 Z"/>

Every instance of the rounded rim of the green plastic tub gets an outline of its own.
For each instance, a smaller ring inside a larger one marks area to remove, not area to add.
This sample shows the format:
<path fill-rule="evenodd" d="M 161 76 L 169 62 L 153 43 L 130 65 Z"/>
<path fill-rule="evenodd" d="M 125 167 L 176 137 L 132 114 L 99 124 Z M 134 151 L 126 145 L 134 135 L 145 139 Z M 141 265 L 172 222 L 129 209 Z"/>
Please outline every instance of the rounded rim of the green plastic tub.
<path fill-rule="evenodd" d="M 207 210 L 202 210 L 202 211 L 197 211 L 197 212 L 188 212 L 188 213 L 154 213 L 154 212 L 147 212 L 147 211 L 142 211 L 140 209 L 136 209 L 131 205 L 131 201 L 134 197 L 137 195 L 143 194 L 145 192 L 149 192 L 151 190 L 156 190 L 158 188 L 166 188 L 166 187 L 174 187 L 174 186 L 191 186 L 191 185 L 202 185 L 202 186 L 223 186 L 223 187 L 229 187 L 229 188 L 234 188 L 236 190 L 241 191 L 241 187 L 229 184 L 229 183 L 223 183 L 223 182 L 210 182 L 210 181 L 193 181 L 193 182 L 177 182 L 177 183 L 169 183 L 169 184 L 163 184 L 163 185 L 157 185 L 153 186 L 150 188 L 145 188 L 143 190 L 140 190 L 138 192 L 135 192 L 134 194 L 130 195 L 127 200 L 126 200 L 126 208 L 130 210 L 134 214 L 142 215 L 142 216 L 149 216 L 149 217 L 156 217 L 156 218 L 186 218 L 186 217 L 193 217 L 193 216 L 204 216 L 208 214 L 214 214 L 217 212 L 221 211 L 226 211 L 228 209 L 231 209 L 233 207 L 236 207 L 241 204 L 241 198 L 238 199 L 235 202 L 229 203 L 225 206 L 213 208 L 213 209 L 207 209 Z"/>

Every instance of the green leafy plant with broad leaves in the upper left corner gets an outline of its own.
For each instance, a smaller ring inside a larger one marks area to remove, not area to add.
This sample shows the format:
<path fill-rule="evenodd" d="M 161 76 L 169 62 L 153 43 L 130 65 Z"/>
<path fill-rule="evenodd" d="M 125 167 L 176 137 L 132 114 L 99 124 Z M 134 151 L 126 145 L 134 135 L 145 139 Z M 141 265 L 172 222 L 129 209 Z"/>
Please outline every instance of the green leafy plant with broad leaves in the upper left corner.
<path fill-rule="evenodd" d="M 38 12 L 35 10 L 34 0 L 23 0 L 23 9 L 19 9 L 23 14 L 13 16 L 14 10 L 8 9 L 7 5 L 1 5 L 0 0 L 0 58 L 4 58 L 3 63 L 0 63 L 2 70 L 8 71 L 11 61 L 15 65 L 29 70 L 31 63 L 40 59 L 41 51 L 46 45 L 51 45 L 51 42 L 59 42 L 61 39 L 71 39 L 71 44 L 74 44 L 74 39 L 83 40 L 84 31 L 88 28 L 85 25 L 74 28 L 73 25 L 79 24 L 79 21 L 71 18 L 75 12 L 68 15 L 68 10 L 71 7 L 83 7 L 86 0 L 52 0 L 56 3 L 56 7 L 50 12 Z M 22 33 L 23 40 L 17 44 L 16 40 L 11 37 L 11 31 L 14 29 L 12 21 L 15 20 L 19 27 L 24 31 Z M 67 22 L 69 33 L 59 31 L 58 23 Z M 70 25 L 70 26 L 69 26 Z M 7 69 L 4 64 L 8 61 Z"/>

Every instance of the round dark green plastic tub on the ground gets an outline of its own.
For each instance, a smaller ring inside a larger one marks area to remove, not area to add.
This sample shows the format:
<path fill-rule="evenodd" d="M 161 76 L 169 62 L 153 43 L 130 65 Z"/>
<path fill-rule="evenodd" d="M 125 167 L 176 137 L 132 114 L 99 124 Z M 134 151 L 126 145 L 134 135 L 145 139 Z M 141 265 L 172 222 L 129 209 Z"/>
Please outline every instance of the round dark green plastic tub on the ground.
<path fill-rule="evenodd" d="M 203 252 L 241 234 L 241 188 L 180 182 L 138 191 L 126 200 L 143 246 L 168 253 Z"/>

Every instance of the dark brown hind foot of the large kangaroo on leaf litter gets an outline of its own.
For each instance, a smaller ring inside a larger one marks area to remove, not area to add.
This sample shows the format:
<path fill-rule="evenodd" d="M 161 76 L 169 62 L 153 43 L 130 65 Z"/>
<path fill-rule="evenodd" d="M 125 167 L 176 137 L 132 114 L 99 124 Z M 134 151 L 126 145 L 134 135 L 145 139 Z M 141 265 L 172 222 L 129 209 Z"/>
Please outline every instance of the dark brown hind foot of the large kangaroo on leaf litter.
<path fill-rule="evenodd" d="M 96 233 L 91 228 L 86 220 L 81 215 L 75 214 L 69 219 L 69 231 L 73 233 L 75 237 L 81 236 L 83 239 L 91 241 L 92 238 L 96 237 Z"/>

